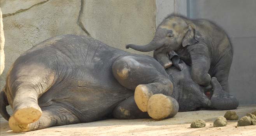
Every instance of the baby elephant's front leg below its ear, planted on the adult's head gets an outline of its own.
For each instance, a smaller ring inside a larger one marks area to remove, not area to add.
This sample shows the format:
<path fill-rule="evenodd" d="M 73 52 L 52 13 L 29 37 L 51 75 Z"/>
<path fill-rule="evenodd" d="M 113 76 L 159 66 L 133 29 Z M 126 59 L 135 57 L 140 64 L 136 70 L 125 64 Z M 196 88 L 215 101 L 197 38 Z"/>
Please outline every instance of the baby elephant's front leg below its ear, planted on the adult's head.
<path fill-rule="evenodd" d="M 192 61 L 192 79 L 199 85 L 207 86 L 210 84 L 209 75 L 210 58 L 209 49 L 201 43 L 188 47 Z"/>

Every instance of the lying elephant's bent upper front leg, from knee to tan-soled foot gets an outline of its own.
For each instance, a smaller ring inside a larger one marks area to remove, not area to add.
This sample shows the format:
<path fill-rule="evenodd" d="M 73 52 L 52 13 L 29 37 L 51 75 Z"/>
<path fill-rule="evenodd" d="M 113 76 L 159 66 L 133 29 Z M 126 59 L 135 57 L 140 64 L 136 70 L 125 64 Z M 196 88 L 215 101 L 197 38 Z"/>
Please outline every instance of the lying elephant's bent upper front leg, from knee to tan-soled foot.
<path fill-rule="evenodd" d="M 147 112 L 148 101 L 154 94 L 172 95 L 172 82 L 163 67 L 151 57 L 120 57 L 113 63 L 112 72 L 121 85 L 135 90 L 135 103 L 142 112 Z M 168 115 L 163 115 L 163 118 Z"/>

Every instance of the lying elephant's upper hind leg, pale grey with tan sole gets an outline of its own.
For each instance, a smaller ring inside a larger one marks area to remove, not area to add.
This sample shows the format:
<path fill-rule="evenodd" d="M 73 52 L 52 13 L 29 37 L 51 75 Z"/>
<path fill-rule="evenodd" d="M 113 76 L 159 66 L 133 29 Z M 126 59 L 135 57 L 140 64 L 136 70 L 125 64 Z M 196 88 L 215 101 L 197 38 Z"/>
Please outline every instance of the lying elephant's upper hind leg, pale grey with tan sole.
<path fill-rule="evenodd" d="M 36 59 L 27 63 L 15 62 L 7 77 L 6 94 L 11 96 L 8 101 L 13 117 L 26 124 L 37 121 L 42 115 L 38 98 L 53 84 L 55 75 L 51 68 L 44 69 L 48 65 L 34 61 Z"/>

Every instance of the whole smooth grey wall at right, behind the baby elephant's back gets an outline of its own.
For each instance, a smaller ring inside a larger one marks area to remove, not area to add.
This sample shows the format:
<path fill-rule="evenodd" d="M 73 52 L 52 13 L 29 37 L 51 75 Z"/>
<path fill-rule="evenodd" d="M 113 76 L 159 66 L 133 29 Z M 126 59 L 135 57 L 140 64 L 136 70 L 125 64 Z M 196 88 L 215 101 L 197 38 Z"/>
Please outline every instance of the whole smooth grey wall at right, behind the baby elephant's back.
<path fill-rule="evenodd" d="M 210 19 L 234 47 L 230 92 L 240 104 L 256 103 L 256 0 L 188 0 L 188 16 Z"/>

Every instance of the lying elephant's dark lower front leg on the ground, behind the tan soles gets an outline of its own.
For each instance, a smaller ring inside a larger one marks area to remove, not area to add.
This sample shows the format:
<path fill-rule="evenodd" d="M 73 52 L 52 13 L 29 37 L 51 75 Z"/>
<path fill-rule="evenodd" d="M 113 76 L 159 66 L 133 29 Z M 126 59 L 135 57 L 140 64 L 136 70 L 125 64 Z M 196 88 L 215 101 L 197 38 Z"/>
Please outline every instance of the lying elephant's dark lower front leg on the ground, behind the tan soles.
<path fill-rule="evenodd" d="M 113 110 L 112 115 L 116 119 L 148 119 L 147 112 L 142 112 L 136 105 L 134 96 L 119 103 Z"/>

